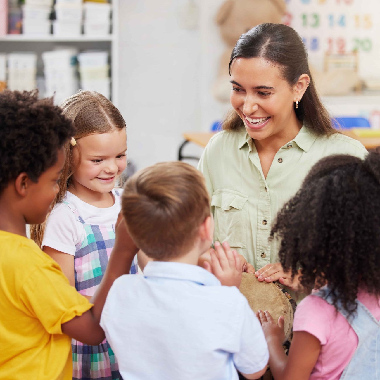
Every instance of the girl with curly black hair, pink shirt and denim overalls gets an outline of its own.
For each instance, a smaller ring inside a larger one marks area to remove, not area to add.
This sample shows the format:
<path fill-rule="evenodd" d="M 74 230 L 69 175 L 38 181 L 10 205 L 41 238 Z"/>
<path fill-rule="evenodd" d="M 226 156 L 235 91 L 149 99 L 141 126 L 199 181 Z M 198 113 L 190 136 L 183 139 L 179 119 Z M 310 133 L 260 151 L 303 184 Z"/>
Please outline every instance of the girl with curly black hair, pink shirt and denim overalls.
<path fill-rule="evenodd" d="M 320 160 L 277 215 L 280 262 L 312 289 L 294 315 L 288 358 L 259 311 L 275 379 L 380 378 L 380 150 Z"/>

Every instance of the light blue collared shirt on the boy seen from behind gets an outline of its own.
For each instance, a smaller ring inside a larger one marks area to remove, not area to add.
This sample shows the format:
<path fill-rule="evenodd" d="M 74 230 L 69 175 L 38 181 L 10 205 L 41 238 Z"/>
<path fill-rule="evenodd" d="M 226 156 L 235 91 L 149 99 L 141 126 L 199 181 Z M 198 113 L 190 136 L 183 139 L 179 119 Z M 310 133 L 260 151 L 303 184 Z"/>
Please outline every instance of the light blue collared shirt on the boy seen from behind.
<path fill-rule="evenodd" d="M 269 353 L 260 322 L 236 287 L 205 269 L 150 261 L 111 287 L 101 327 L 128 380 L 237 380 Z"/>

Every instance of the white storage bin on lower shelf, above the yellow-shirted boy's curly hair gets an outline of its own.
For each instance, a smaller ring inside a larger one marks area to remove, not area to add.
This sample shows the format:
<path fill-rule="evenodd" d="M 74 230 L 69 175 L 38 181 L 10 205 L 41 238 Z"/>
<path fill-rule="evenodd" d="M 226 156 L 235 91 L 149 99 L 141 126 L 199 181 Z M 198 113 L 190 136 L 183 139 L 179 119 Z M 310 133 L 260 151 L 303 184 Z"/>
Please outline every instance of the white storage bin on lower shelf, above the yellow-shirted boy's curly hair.
<path fill-rule="evenodd" d="M 33 90 L 36 88 L 37 55 L 35 53 L 8 54 L 8 89 Z"/>

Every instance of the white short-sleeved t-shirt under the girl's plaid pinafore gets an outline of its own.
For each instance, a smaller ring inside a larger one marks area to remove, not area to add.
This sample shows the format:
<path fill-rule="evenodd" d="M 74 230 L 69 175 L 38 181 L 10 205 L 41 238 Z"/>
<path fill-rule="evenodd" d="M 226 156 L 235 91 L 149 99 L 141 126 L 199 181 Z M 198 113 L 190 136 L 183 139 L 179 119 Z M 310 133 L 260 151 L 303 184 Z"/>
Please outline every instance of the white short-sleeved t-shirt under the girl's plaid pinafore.
<path fill-rule="evenodd" d="M 67 192 L 63 201 L 70 203 L 70 207 L 65 203 L 57 203 L 54 206 L 47 218 L 42 247 L 46 245 L 57 251 L 75 256 L 76 248 L 81 246 L 86 237 L 86 232 L 73 210 L 76 209 L 79 216 L 87 224 L 100 226 L 115 224 L 121 209 L 120 195 L 122 191 L 122 189 L 112 190 L 115 203 L 113 206 L 104 209 L 92 206 L 76 195 Z"/>

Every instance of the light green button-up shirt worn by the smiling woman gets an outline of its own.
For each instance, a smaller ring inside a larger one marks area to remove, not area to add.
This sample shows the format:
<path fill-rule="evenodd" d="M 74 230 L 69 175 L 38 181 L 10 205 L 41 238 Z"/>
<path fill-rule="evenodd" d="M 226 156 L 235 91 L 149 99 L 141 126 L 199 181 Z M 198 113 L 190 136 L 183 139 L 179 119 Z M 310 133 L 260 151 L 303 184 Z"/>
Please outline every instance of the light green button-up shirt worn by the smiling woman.
<path fill-rule="evenodd" d="M 275 217 L 312 166 L 332 154 L 363 158 L 366 153 L 359 141 L 348 136 L 316 136 L 303 126 L 294 140 L 279 149 L 264 178 L 245 128 L 217 133 L 198 165 L 211 196 L 214 241 L 228 241 L 256 269 L 276 262 L 279 242 L 268 241 Z"/>

